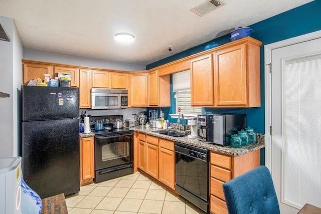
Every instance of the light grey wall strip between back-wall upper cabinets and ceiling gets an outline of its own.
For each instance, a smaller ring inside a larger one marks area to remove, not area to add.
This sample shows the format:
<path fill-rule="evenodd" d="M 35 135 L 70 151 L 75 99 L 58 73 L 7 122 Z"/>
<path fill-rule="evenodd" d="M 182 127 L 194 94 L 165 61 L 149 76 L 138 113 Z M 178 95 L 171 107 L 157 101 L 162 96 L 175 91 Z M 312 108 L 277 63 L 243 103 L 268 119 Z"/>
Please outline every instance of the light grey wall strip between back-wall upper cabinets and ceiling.
<path fill-rule="evenodd" d="M 76 56 L 70 56 L 70 55 L 64 55 L 64 54 L 54 54 L 54 53 L 35 51 L 30 49 L 24 50 L 24 59 L 69 64 L 69 65 L 78 65 L 78 66 L 88 66 L 88 67 L 95 67 L 95 68 L 115 69 L 115 70 L 123 70 L 123 71 L 140 71 L 140 70 L 146 69 L 146 66 L 142 66 L 142 65 L 113 62 L 113 61 L 92 59 L 92 58 L 86 58 L 86 57 L 76 57 Z"/>

